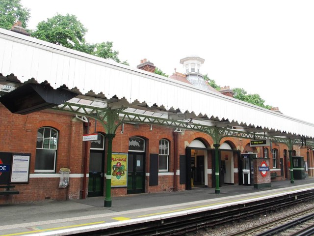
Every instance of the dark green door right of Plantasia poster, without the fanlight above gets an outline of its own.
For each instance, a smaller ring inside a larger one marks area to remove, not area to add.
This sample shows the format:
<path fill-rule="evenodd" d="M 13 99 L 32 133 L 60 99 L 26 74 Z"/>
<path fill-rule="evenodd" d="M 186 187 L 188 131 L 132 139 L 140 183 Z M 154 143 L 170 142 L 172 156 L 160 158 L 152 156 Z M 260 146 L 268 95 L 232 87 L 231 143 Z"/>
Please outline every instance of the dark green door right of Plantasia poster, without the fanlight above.
<path fill-rule="evenodd" d="M 128 194 L 145 192 L 145 153 L 129 152 Z"/>

